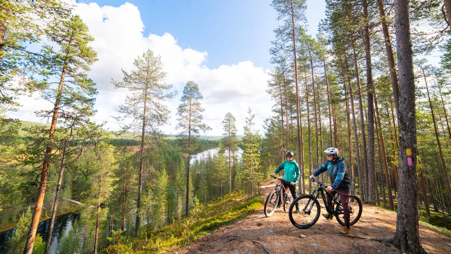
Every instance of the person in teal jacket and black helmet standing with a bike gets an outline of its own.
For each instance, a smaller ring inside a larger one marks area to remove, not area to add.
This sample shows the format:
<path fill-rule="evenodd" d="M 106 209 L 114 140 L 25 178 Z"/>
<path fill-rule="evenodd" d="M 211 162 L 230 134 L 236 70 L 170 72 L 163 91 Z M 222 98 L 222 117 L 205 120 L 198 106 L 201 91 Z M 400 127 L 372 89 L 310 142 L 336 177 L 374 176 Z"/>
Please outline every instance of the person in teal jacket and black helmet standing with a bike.
<path fill-rule="evenodd" d="M 284 189 L 287 187 L 290 188 L 291 195 L 293 196 L 293 200 L 298 197 L 298 194 L 296 192 L 296 183 L 299 180 L 300 171 L 299 171 L 299 165 L 296 163 L 296 160 L 294 158 L 294 153 L 288 151 L 286 153 L 286 160 L 282 162 L 282 164 L 272 173 L 272 175 L 276 175 L 284 169 L 283 179 L 282 181 Z M 279 203 L 277 204 L 277 207 L 281 205 L 281 200 L 279 199 Z M 296 211 L 295 213 L 299 213 L 299 204 L 296 203 Z"/>

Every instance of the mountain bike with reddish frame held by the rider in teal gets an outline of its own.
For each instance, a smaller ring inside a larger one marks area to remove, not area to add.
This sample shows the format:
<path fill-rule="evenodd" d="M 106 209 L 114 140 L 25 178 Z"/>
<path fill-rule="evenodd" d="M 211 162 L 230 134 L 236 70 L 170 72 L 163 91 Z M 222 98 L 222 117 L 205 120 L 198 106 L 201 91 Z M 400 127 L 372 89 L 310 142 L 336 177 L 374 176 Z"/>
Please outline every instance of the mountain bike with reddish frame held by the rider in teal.
<path fill-rule="evenodd" d="M 287 205 L 293 202 L 290 188 L 288 188 L 288 186 L 286 188 L 283 188 L 283 183 L 291 183 L 273 175 L 271 175 L 271 177 L 280 180 L 280 182 L 276 184 L 276 188 L 274 188 L 274 190 L 270 192 L 266 197 L 264 211 L 267 217 L 271 216 L 276 211 L 276 208 L 278 207 L 277 203 L 279 202 L 279 200 L 281 200 L 281 205 L 283 205 L 283 210 L 285 212 L 288 208 Z"/>

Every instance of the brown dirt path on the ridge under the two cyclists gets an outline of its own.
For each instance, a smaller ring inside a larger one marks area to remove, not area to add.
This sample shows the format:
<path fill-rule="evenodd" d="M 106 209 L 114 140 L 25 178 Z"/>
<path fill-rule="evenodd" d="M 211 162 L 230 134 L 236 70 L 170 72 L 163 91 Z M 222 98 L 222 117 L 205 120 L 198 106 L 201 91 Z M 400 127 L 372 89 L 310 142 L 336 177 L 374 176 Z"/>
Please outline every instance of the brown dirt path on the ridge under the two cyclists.
<path fill-rule="evenodd" d="M 274 189 L 276 180 L 262 186 L 268 193 Z M 322 202 L 320 202 L 322 203 Z M 323 211 L 322 207 L 322 211 Z M 256 240 L 264 245 L 272 254 L 360 254 L 353 246 L 361 246 L 363 253 L 400 253 L 390 245 L 374 241 L 358 241 L 361 239 L 340 235 L 340 224 L 335 220 L 328 221 L 320 216 L 318 222 L 309 229 L 295 228 L 283 208 L 276 210 L 271 217 L 266 217 L 263 210 L 243 218 L 234 224 L 224 226 L 204 236 L 192 245 L 176 250 L 177 254 L 261 254 L 262 247 L 249 240 L 231 238 L 227 235 L 239 235 Z M 451 254 L 451 239 L 436 230 L 420 225 L 420 238 L 423 247 L 434 254 Z M 364 238 L 389 238 L 396 230 L 396 214 L 378 207 L 364 204 L 363 214 L 359 222 L 351 226 L 351 235 Z M 301 237 L 301 235 L 303 235 Z"/>

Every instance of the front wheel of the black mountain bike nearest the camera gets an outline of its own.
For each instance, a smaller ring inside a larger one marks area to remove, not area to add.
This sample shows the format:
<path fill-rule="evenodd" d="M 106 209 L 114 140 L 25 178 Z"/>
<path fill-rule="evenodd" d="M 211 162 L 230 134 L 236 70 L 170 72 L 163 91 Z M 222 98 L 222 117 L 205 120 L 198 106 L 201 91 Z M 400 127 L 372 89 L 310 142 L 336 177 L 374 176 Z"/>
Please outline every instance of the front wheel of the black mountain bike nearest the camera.
<path fill-rule="evenodd" d="M 299 213 L 294 213 L 296 204 L 299 206 Z M 288 209 L 288 217 L 293 225 L 298 228 L 309 228 L 318 221 L 320 206 L 318 200 L 314 200 L 312 195 L 302 195 L 291 203 Z"/>

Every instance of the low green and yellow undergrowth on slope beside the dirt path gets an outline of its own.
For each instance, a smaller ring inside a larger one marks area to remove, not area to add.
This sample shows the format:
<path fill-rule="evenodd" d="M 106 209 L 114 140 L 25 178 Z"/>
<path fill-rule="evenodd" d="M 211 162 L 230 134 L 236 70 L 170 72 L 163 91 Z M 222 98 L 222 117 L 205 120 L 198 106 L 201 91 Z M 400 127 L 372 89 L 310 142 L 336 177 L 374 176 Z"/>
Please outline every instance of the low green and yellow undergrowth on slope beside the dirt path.
<path fill-rule="evenodd" d="M 233 192 L 230 196 L 214 198 L 197 211 L 191 211 L 188 218 L 160 229 L 149 231 L 147 235 L 135 238 L 133 243 L 122 241 L 108 247 L 106 253 L 151 254 L 165 253 L 168 249 L 186 245 L 207 235 L 220 226 L 228 225 L 240 218 L 249 216 L 254 211 L 262 209 L 262 198 L 245 198 L 240 192 Z M 143 226 L 145 229 L 145 226 Z"/>

